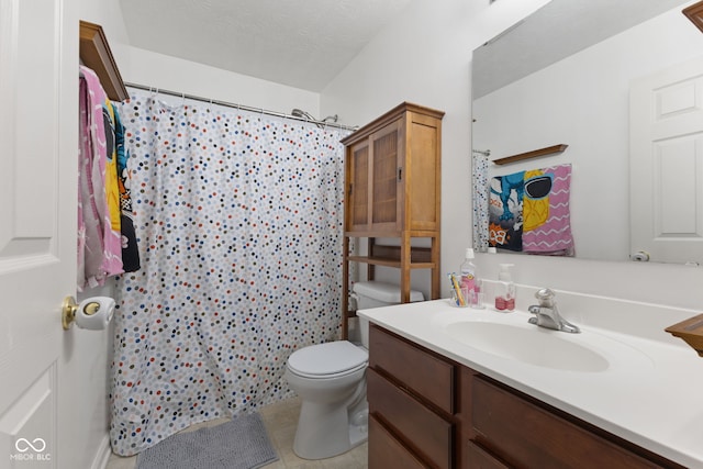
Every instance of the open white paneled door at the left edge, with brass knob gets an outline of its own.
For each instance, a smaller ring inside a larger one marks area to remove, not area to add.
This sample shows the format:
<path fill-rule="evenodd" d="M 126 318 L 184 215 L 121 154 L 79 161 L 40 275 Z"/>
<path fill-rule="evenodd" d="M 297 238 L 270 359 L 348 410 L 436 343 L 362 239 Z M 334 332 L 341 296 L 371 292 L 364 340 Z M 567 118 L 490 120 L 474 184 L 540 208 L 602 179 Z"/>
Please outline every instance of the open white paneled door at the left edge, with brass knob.
<path fill-rule="evenodd" d="M 70 0 L 0 0 L 0 468 L 57 468 L 76 294 L 78 20 Z M 66 435 L 68 438 L 70 435 Z"/>

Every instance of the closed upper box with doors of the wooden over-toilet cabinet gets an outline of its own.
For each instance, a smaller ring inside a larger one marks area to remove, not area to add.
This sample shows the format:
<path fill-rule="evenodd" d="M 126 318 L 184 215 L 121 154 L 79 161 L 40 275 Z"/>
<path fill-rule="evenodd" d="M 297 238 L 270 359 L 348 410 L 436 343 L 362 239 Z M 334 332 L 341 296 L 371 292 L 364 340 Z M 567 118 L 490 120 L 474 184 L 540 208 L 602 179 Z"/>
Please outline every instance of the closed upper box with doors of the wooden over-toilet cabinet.
<path fill-rule="evenodd" d="M 342 141 L 346 232 L 399 236 L 439 230 L 443 116 L 402 103 Z"/>

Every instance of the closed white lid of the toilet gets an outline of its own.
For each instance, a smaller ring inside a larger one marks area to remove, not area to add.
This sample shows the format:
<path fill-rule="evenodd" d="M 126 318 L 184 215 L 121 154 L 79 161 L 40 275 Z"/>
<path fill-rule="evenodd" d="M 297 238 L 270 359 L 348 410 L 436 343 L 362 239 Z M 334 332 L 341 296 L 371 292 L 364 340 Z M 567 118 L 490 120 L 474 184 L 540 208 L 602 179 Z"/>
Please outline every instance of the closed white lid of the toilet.
<path fill-rule="evenodd" d="M 288 357 L 292 371 L 306 376 L 336 375 L 366 366 L 369 354 L 348 340 L 327 342 L 295 350 Z"/>

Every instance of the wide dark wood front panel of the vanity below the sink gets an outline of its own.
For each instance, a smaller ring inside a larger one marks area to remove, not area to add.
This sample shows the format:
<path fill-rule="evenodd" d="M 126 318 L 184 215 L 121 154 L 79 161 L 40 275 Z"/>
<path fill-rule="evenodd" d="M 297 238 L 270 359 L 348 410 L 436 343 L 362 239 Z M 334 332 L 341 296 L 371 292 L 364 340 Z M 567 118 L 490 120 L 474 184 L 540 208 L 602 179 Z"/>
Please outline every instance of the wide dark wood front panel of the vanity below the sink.
<path fill-rule="evenodd" d="M 481 378 L 473 380 L 472 398 L 476 439 L 510 466 L 665 467 Z"/>

